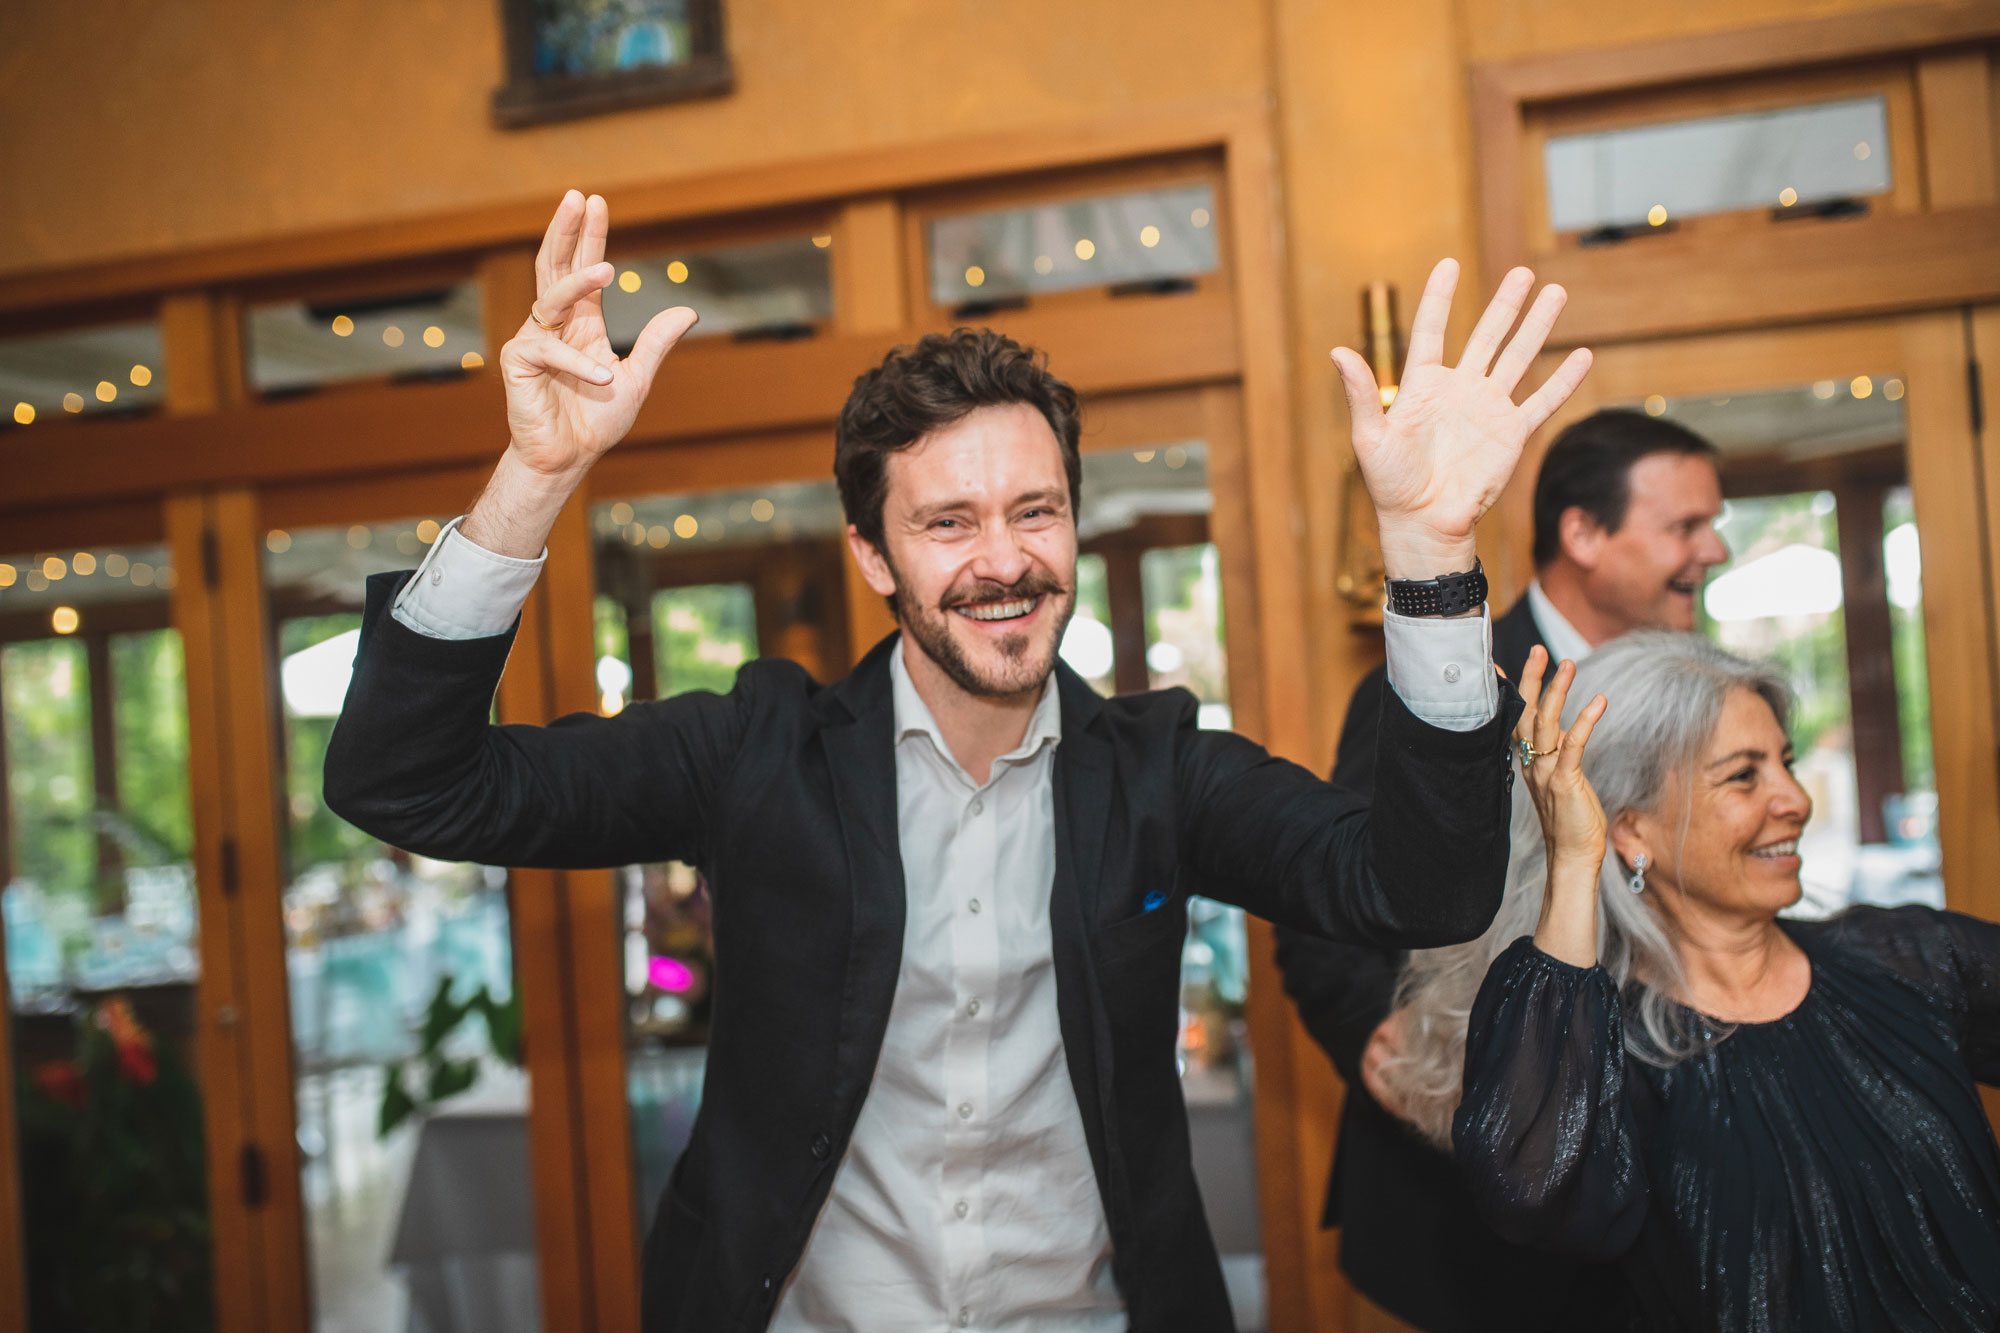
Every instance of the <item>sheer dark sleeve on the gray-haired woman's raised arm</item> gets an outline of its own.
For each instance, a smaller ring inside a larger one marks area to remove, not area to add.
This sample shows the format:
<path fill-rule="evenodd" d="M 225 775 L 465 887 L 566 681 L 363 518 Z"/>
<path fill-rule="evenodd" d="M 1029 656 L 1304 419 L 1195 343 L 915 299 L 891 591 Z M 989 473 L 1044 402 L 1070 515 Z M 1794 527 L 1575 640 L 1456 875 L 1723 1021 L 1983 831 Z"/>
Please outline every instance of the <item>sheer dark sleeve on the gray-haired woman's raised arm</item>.
<path fill-rule="evenodd" d="M 1610 973 L 1526 937 L 1494 959 L 1466 1027 L 1452 1143 L 1502 1237 L 1584 1259 L 1636 1243 L 1648 1187 L 1624 1061 Z"/>

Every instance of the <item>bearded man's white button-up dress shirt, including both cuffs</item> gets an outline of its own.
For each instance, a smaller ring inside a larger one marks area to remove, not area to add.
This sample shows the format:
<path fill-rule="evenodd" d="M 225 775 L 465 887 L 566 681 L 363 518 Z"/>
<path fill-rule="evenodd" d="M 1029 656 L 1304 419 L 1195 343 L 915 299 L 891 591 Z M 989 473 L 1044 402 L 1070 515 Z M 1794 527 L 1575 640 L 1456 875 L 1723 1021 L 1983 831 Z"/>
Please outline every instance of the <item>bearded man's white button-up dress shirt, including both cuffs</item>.
<path fill-rule="evenodd" d="M 460 536 L 432 544 L 392 614 L 484 638 L 520 612 L 542 560 Z M 1486 614 L 1386 614 L 1388 679 L 1420 719 L 1472 731 L 1498 687 Z M 1054 681 L 978 785 L 890 656 L 902 967 L 874 1083 L 772 1329 L 1122 1329 L 1110 1225 L 1056 1017 Z"/>

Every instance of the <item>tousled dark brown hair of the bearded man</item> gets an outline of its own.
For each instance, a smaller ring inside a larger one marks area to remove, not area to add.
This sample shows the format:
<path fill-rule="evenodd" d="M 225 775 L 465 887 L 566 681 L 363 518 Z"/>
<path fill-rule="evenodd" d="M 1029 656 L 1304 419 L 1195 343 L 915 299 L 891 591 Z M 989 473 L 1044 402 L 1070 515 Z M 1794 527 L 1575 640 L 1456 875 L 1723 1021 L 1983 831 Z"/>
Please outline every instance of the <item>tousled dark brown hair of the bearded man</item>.
<path fill-rule="evenodd" d="M 1048 372 L 1048 358 L 990 328 L 924 334 L 898 346 L 854 380 L 834 426 L 834 480 L 848 522 L 876 550 L 882 546 L 882 500 L 888 456 L 932 430 L 964 420 L 974 408 L 1026 402 L 1056 432 L 1070 476 L 1070 512 L 1082 502 L 1084 462 L 1076 452 L 1076 390 Z"/>

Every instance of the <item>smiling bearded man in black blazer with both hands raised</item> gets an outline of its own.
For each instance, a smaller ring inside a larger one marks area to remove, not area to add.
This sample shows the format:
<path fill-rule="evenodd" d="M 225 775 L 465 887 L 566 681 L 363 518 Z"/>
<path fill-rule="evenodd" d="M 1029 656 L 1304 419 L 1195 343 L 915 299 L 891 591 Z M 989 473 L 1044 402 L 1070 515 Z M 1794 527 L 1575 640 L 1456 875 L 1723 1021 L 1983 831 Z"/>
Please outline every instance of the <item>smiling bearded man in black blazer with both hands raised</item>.
<path fill-rule="evenodd" d="M 500 354 L 492 480 L 418 570 L 370 580 L 326 803 L 428 857 L 706 875 L 708 1073 L 646 1239 L 648 1333 L 1228 1329 L 1174 1065 L 1186 901 L 1392 949 L 1492 919 L 1518 699 L 1472 528 L 1590 364 L 1512 400 L 1562 290 L 1528 304 L 1510 272 L 1446 366 L 1438 264 L 1392 412 L 1334 354 L 1408 612 L 1370 813 L 1200 731 L 1186 691 L 1100 699 L 1058 662 L 1078 402 L 984 330 L 890 352 L 840 412 L 848 544 L 900 624 L 846 679 L 758 660 L 728 695 L 490 725 L 556 514 L 694 322 L 612 352 L 606 232 L 602 198 L 564 198 Z"/>

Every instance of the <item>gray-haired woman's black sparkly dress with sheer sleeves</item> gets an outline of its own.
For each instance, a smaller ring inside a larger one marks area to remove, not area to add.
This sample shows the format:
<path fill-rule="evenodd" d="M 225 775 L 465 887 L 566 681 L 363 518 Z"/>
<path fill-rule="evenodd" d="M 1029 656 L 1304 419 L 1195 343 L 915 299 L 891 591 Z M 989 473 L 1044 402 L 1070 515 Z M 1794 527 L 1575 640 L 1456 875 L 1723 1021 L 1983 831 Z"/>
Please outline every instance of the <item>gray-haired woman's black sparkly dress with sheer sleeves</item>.
<path fill-rule="evenodd" d="M 2000 1083 L 2000 925 L 1780 925 L 1806 999 L 1672 1069 L 1626 1053 L 1602 967 L 1514 941 L 1472 1007 L 1452 1125 L 1480 1211 L 1616 1259 L 1636 1297 L 1616 1327 L 1992 1333 L 2000 1151 L 1974 1085 Z"/>

